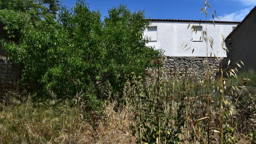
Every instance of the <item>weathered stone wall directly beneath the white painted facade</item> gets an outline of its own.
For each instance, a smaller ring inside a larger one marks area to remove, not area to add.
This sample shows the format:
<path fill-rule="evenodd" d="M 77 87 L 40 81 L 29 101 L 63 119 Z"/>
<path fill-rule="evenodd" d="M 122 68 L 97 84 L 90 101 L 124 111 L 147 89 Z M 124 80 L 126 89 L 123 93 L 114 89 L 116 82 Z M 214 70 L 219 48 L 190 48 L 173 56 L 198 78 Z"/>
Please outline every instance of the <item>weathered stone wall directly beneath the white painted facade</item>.
<path fill-rule="evenodd" d="M 206 78 L 206 57 L 167 56 L 164 63 L 164 72 L 180 80 L 185 74 L 186 77 L 198 81 Z M 220 60 L 208 57 L 208 63 L 209 78 L 215 79 L 219 71 Z M 153 69 L 147 69 L 147 71 L 150 74 L 154 72 Z"/>

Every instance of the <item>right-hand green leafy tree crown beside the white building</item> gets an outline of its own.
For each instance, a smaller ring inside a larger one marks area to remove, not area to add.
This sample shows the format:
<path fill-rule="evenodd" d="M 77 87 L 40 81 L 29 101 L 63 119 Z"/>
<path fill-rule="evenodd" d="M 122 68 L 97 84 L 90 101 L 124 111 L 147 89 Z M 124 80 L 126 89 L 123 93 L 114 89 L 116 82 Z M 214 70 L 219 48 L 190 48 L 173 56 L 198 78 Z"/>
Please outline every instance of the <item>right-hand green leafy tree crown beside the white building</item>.
<path fill-rule="evenodd" d="M 131 72 L 144 76 L 146 66 L 158 55 L 145 46 L 148 40 L 143 38 L 143 32 L 149 24 L 144 12 L 131 13 L 123 5 L 110 9 L 109 16 L 105 17 L 105 75 L 114 90 L 122 89 Z"/>

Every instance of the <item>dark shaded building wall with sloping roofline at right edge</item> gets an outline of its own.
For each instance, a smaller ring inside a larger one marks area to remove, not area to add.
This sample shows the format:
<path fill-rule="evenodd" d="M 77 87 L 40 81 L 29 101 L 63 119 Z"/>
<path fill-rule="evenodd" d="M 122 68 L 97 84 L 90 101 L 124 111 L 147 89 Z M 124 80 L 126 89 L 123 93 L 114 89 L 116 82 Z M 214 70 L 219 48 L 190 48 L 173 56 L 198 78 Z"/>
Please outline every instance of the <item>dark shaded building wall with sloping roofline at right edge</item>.
<path fill-rule="evenodd" d="M 231 63 L 243 61 L 243 69 L 256 69 L 256 7 L 227 36 L 226 46 L 229 52 L 223 61 L 223 67 L 227 67 L 230 59 Z"/>

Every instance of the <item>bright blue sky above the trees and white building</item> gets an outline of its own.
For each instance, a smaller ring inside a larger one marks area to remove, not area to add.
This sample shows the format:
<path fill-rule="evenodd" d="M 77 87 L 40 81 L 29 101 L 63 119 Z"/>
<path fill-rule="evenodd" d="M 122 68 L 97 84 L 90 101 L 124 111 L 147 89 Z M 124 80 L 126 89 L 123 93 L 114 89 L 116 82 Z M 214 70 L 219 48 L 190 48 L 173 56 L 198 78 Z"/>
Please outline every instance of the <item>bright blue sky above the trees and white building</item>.
<path fill-rule="evenodd" d="M 71 7 L 76 0 L 60 0 L 66 7 Z M 133 12 L 144 10 L 147 18 L 151 19 L 192 19 L 205 20 L 203 13 L 204 0 L 86 0 L 90 10 L 99 10 L 102 19 L 108 15 L 109 8 L 125 4 Z M 216 10 L 217 16 L 224 21 L 242 21 L 255 7 L 256 0 L 208 0 L 209 18 Z M 215 19 L 220 20 L 220 19 Z"/>

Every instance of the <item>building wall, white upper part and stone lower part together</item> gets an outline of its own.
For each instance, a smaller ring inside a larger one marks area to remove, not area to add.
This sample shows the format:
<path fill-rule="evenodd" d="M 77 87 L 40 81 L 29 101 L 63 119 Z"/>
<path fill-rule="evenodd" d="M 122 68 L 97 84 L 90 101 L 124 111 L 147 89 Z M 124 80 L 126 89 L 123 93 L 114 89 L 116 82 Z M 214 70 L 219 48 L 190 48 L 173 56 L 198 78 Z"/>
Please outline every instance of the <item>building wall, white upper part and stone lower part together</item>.
<path fill-rule="evenodd" d="M 190 27 L 187 29 L 189 23 Z M 154 41 L 150 41 L 148 45 L 165 51 L 164 55 L 167 56 L 165 72 L 168 75 L 172 77 L 175 75 L 175 77 L 182 79 L 184 73 L 186 73 L 187 76 L 195 80 L 202 80 L 206 78 L 206 62 L 204 61 L 206 61 L 207 56 L 207 44 L 203 40 L 203 34 L 201 40 L 191 40 L 193 38 L 191 26 L 199 26 L 202 33 L 207 28 L 207 36 L 211 36 L 214 40 L 212 49 L 210 42 L 208 42 L 209 75 L 210 78 L 216 78 L 220 61 L 211 58 L 211 56 L 214 56 L 214 54 L 221 58 L 227 56 L 221 46 L 223 42 L 222 35 L 225 38 L 237 24 L 239 22 L 216 21 L 215 25 L 212 22 L 207 22 L 206 25 L 205 22 L 200 23 L 198 20 L 152 19 L 150 26 L 154 29 L 157 28 L 157 36 L 155 37 L 154 33 Z M 152 30 L 146 30 L 144 35 L 152 35 Z M 185 45 L 187 45 L 186 48 L 184 48 Z M 190 50 L 185 51 L 189 47 L 191 47 Z M 193 48 L 194 52 L 192 54 Z M 152 74 L 153 70 L 149 69 L 148 72 Z"/>

